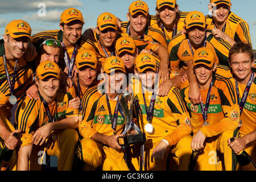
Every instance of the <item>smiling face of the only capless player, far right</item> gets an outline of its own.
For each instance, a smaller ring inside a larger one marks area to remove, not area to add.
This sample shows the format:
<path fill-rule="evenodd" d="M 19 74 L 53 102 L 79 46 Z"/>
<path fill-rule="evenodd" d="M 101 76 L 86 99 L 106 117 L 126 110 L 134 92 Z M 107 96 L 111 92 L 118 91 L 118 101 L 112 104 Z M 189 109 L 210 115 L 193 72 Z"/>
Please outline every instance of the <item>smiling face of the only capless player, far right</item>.
<path fill-rule="evenodd" d="M 230 57 L 230 67 L 232 72 L 241 84 L 247 84 L 251 76 L 251 67 L 254 60 L 251 60 L 247 53 L 237 53 Z"/>

